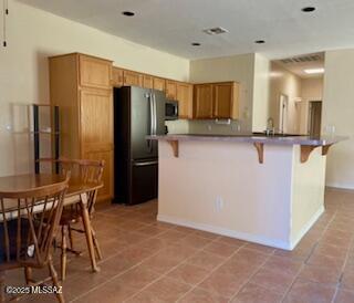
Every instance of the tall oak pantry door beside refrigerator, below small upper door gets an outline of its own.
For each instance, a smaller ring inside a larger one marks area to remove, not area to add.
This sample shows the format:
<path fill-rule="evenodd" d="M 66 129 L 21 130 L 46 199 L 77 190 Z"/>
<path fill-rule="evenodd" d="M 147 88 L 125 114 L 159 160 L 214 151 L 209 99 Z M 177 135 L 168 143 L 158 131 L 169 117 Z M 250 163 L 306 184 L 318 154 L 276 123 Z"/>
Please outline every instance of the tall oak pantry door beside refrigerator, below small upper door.
<path fill-rule="evenodd" d="M 106 160 L 105 184 L 100 199 L 113 197 L 113 101 L 112 90 L 80 92 L 81 156 Z"/>

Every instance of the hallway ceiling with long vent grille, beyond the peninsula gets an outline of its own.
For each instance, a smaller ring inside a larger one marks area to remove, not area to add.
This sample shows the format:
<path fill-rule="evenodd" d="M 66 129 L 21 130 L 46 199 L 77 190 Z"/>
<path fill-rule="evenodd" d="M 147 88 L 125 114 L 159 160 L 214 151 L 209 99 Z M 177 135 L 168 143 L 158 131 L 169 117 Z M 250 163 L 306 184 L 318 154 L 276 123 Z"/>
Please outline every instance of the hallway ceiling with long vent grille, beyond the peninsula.
<path fill-rule="evenodd" d="M 323 76 L 323 74 L 306 74 L 304 72 L 308 69 L 324 69 L 323 52 L 274 60 L 274 62 L 302 79 Z"/>

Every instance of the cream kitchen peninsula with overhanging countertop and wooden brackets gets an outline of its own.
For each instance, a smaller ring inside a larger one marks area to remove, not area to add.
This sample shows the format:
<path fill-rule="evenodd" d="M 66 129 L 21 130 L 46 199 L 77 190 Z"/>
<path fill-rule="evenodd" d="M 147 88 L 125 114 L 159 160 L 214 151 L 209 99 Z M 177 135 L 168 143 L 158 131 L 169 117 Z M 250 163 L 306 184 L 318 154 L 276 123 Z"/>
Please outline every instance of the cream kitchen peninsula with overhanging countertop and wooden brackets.
<path fill-rule="evenodd" d="M 158 220 L 292 250 L 324 211 L 325 161 L 345 137 L 149 136 Z"/>

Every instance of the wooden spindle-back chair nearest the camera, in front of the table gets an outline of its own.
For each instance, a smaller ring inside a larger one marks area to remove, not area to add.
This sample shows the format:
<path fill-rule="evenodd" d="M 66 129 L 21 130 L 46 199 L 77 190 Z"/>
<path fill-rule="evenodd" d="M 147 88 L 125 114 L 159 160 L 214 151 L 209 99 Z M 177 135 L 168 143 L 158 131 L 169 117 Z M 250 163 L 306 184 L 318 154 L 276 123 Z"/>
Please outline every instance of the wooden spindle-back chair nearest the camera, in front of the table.
<path fill-rule="evenodd" d="M 24 269 L 28 285 L 38 286 L 52 281 L 53 286 L 59 290 L 51 250 L 63 210 L 69 178 L 67 176 L 63 182 L 27 191 L 0 192 L 1 302 L 6 299 L 6 271 L 12 269 Z M 50 276 L 42 281 L 33 281 L 31 269 L 44 267 L 49 268 Z M 62 293 L 56 292 L 56 297 L 64 302 Z"/>

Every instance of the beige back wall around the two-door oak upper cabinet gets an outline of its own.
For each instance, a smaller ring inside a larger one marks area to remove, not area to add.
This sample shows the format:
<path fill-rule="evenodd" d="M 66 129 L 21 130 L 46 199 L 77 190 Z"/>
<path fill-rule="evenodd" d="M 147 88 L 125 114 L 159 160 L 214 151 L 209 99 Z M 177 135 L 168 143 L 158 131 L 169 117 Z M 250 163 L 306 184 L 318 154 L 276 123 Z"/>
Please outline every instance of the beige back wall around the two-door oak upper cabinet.
<path fill-rule="evenodd" d="M 192 83 L 236 81 L 240 83 L 240 118 L 241 132 L 252 130 L 254 54 L 241 54 L 215 59 L 202 59 L 190 62 L 190 81 Z M 212 122 L 189 122 L 191 133 L 209 132 L 232 133 L 237 127 L 215 125 Z"/>

